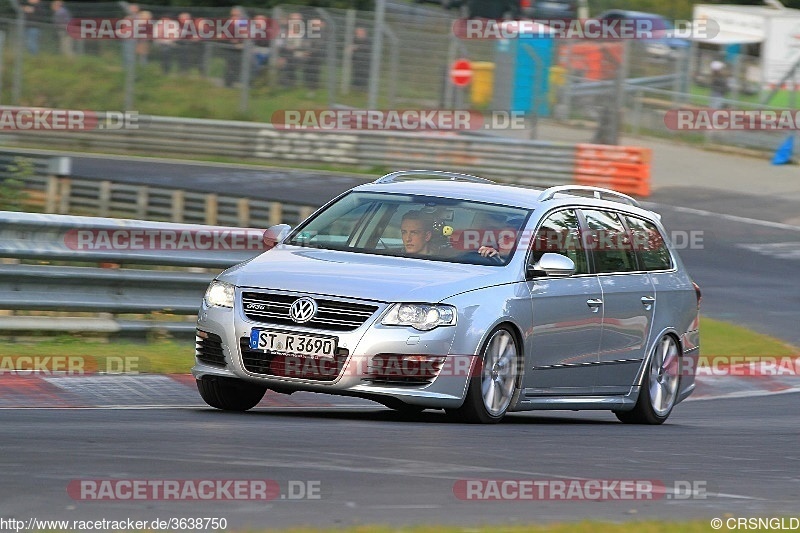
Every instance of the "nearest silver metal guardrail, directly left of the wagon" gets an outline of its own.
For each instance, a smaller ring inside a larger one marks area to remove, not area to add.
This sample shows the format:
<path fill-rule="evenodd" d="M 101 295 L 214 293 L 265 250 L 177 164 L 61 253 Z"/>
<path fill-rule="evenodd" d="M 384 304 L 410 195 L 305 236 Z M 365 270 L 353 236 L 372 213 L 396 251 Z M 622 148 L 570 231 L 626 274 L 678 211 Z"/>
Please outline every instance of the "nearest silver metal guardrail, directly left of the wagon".
<path fill-rule="evenodd" d="M 262 252 L 263 234 L 225 226 L 0 212 L 0 257 L 5 258 L 0 264 L 0 310 L 5 310 L 0 331 L 191 333 L 191 315 L 208 283 L 221 269 Z M 17 261 L 23 259 L 102 267 Z M 43 317 L 19 316 L 20 311 L 174 316 Z"/>

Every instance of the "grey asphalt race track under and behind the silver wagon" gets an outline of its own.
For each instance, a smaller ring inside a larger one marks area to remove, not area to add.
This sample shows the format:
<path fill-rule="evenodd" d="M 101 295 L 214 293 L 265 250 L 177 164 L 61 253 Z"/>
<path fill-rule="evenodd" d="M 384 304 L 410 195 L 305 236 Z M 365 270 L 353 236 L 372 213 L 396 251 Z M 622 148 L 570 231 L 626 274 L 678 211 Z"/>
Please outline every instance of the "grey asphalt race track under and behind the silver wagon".
<path fill-rule="evenodd" d="M 249 173 L 242 179 L 253 190 L 270 186 Z M 312 186 L 289 177 L 281 190 L 307 194 Z M 703 289 L 705 315 L 800 344 L 800 228 L 787 222 L 796 207 L 774 199 L 765 209 L 763 201 L 697 189 L 661 189 L 650 201 L 673 232 L 702 232 L 702 247 L 681 256 Z M 185 384 L 171 386 L 180 398 L 140 390 L 145 400 L 127 406 L 0 401 L 0 517 L 203 516 L 224 517 L 229 528 L 278 528 L 800 515 L 797 393 L 695 399 L 658 427 L 625 426 L 606 412 L 512 414 L 496 426 L 465 426 L 435 411 L 405 418 L 316 395 L 221 413 L 200 407 Z M 76 387 L 73 398 L 88 391 Z M 654 480 L 668 490 L 652 501 L 455 496 L 454 484 L 476 478 Z M 66 487 L 80 479 L 269 479 L 284 495 L 290 482 L 319 482 L 320 498 L 79 501 Z M 700 490 L 684 498 L 669 490 L 676 481 Z"/>

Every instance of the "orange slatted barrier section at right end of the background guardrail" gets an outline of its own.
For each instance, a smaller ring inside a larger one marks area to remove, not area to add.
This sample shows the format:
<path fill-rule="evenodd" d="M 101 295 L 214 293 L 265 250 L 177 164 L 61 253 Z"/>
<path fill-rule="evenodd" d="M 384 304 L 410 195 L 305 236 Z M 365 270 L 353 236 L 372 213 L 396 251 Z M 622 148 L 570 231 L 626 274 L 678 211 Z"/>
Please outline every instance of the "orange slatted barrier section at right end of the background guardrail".
<path fill-rule="evenodd" d="M 578 144 L 575 183 L 650 196 L 650 148 Z"/>

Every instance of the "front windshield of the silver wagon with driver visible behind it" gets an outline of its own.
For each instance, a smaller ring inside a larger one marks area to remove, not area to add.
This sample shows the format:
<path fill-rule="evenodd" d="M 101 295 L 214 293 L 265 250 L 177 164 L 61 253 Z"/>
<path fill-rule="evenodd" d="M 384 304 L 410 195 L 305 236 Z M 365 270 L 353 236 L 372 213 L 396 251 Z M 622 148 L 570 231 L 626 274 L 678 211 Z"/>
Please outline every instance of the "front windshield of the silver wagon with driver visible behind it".
<path fill-rule="evenodd" d="M 527 209 L 482 202 L 351 192 L 295 229 L 286 243 L 434 261 L 504 265 L 513 256 L 529 215 Z"/>

